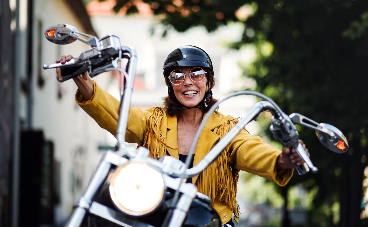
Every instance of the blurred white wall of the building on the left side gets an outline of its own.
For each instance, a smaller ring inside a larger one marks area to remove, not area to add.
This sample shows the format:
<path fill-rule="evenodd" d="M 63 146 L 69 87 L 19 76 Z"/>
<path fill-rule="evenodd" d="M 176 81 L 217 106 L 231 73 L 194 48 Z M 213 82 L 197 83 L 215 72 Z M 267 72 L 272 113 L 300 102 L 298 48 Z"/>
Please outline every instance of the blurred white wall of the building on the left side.
<path fill-rule="evenodd" d="M 96 167 L 95 157 L 100 157 L 97 146 L 105 143 L 105 133 L 88 117 L 85 112 L 74 102 L 74 94 L 77 89 L 72 80 L 64 83 L 57 82 L 55 70 L 42 70 L 45 85 L 38 86 L 38 71 L 40 67 L 37 60 L 40 41 L 42 46 L 41 65 L 52 64 L 62 55 L 79 54 L 90 47 L 82 42 L 74 42 L 70 45 L 56 45 L 46 40 L 43 32 L 54 24 L 71 24 L 85 32 L 78 18 L 63 0 L 37 0 L 34 6 L 33 18 L 33 128 L 43 130 L 45 139 L 54 142 L 55 159 L 61 162 L 61 202 L 55 210 L 56 222 L 63 222 L 72 210 L 75 198 L 85 189 L 85 186 Z M 38 22 L 42 21 L 41 32 L 38 31 Z M 39 39 L 41 38 L 41 39 Z M 98 80 L 97 78 L 96 80 Z M 101 82 L 103 85 L 103 82 Z M 61 90 L 62 97 L 58 99 L 57 91 Z M 21 102 L 22 117 L 26 118 L 25 96 Z M 78 150 L 84 151 L 77 154 Z M 79 158 L 77 158 L 79 157 Z M 74 187 L 72 193 L 72 173 L 81 176 L 82 186 Z"/>

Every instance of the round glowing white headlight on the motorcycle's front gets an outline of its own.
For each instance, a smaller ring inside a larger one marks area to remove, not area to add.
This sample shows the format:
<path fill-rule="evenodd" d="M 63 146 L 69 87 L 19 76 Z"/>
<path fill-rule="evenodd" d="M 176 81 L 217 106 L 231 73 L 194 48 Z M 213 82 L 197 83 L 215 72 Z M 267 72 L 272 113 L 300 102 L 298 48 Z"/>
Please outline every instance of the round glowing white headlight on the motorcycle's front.
<path fill-rule="evenodd" d="M 159 171 L 146 163 L 129 162 L 118 167 L 110 181 L 114 204 L 126 214 L 141 216 L 157 208 L 165 185 Z"/>

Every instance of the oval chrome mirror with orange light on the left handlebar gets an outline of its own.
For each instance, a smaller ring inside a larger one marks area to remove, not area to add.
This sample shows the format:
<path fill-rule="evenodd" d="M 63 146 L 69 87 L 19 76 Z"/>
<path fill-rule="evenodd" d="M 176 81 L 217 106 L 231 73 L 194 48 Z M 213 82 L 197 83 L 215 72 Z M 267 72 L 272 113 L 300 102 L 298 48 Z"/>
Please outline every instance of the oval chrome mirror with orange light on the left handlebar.
<path fill-rule="evenodd" d="M 78 29 L 68 24 L 56 24 L 46 29 L 45 37 L 50 42 L 66 45 L 77 40 Z"/>

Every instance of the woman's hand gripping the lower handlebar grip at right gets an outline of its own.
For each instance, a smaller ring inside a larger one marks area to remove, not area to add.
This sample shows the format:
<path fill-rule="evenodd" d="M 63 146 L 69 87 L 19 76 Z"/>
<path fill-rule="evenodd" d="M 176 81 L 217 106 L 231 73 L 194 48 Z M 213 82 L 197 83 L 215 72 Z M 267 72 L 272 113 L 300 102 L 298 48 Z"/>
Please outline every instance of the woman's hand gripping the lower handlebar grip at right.
<path fill-rule="evenodd" d="M 304 147 L 308 157 L 310 157 L 311 155 L 309 154 L 308 149 L 305 147 L 304 142 L 301 140 L 299 140 L 299 142 Z M 277 169 L 294 169 L 295 168 L 294 164 L 300 166 L 303 163 L 304 160 L 301 159 L 301 157 L 294 150 L 294 148 L 290 149 L 290 147 L 285 147 L 284 149 L 282 149 L 282 153 L 277 158 Z"/>

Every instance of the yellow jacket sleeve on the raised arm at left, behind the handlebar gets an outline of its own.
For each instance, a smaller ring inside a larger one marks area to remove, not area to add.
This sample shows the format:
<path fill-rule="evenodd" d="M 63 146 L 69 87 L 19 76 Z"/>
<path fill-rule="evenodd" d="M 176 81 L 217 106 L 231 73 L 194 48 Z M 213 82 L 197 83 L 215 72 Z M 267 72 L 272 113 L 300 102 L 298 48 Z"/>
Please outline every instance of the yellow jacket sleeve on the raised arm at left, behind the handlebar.
<path fill-rule="evenodd" d="M 85 101 L 82 94 L 77 89 L 75 102 L 96 121 L 101 128 L 106 129 L 116 136 L 118 110 L 120 102 L 108 92 L 100 88 L 93 81 L 94 92 L 90 100 Z M 149 110 L 130 107 L 125 140 L 128 143 L 138 143 L 142 145 L 144 135 L 147 131 L 146 119 L 150 115 Z"/>

